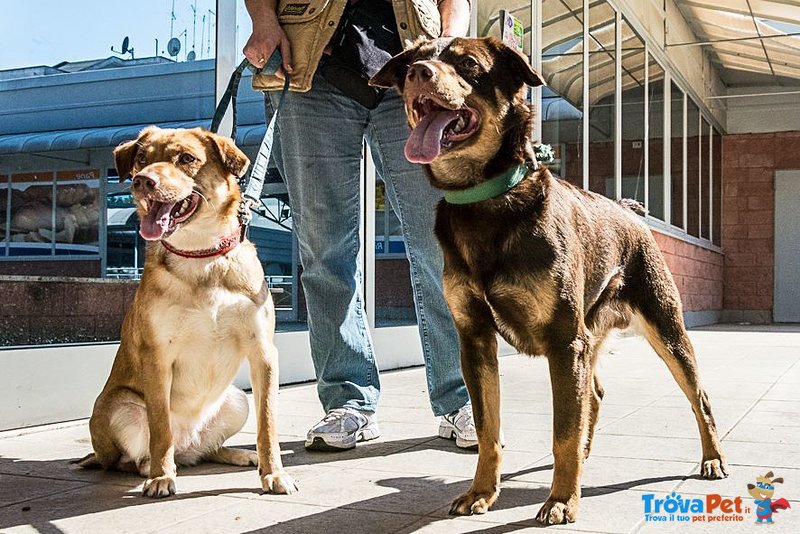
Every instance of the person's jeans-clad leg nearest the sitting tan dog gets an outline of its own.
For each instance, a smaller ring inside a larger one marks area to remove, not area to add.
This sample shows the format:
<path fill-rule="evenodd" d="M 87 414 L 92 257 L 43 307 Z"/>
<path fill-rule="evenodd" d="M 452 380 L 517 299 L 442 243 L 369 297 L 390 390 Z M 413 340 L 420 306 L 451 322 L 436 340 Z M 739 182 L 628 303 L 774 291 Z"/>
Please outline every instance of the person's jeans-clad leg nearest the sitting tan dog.
<path fill-rule="evenodd" d="M 277 106 L 279 95 L 268 94 L 268 107 Z M 359 170 L 366 122 L 363 107 L 317 76 L 308 93 L 286 94 L 276 128 L 273 159 L 289 191 L 326 412 L 374 412 L 380 392 L 361 291 Z"/>

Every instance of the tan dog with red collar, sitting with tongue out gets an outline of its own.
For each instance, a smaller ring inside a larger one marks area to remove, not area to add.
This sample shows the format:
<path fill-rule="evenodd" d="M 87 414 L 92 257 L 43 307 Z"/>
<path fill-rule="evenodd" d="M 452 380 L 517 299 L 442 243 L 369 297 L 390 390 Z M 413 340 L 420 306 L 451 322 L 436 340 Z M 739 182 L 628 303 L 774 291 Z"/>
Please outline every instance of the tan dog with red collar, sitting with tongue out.
<path fill-rule="evenodd" d="M 122 326 L 114 366 L 90 422 L 94 454 L 81 465 L 138 472 L 143 493 L 175 493 L 175 464 L 257 465 L 264 491 L 293 493 L 275 427 L 275 310 L 249 241 L 239 242 L 236 178 L 250 164 L 227 138 L 146 128 L 114 151 L 133 176 L 144 274 Z M 222 443 L 248 413 L 231 385 L 250 364 L 256 452 Z"/>

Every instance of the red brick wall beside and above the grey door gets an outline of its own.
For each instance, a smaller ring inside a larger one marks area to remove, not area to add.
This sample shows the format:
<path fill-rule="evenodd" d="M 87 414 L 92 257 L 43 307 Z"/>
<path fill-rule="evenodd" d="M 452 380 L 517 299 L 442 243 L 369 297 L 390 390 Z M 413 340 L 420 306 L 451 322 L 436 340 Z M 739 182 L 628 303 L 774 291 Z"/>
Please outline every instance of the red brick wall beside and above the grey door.
<path fill-rule="evenodd" d="M 800 131 L 723 139 L 723 320 L 772 321 L 775 171 L 800 168 Z"/>

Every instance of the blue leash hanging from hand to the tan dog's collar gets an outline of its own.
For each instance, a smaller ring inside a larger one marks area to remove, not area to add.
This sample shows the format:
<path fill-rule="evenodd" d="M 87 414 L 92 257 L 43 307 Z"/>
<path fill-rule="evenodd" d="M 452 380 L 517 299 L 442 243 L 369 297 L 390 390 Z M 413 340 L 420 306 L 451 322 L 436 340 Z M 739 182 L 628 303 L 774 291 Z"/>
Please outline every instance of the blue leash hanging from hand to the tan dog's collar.
<path fill-rule="evenodd" d="M 211 127 L 209 130 L 217 133 L 220 123 L 222 122 L 222 117 L 228 110 L 228 106 L 233 103 L 233 128 L 231 128 L 231 138 L 236 142 L 236 95 L 239 91 L 239 82 L 242 79 L 244 69 L 249 68 L 253 73 L 260 71 L 265 74 L 274 74 L 278 68 L 280 68 L 281 63 L 281 54 L 277 49 L 275 49 L 269 61 L 267 61 L 266 65 L 261 69 L 257 69 L 247 59 L 239 63 L 239 66 L 236 67 L 236 70 L 231 74 L 228 87 L 225 89 L 222 98 L 220 98 L 217 109 L 214 110 L 214 117 L 211 120 Z M 253 204 L 258 204 L 261 200 L 261 190 L 264 187 L 264 179 L 267 175 L 267 166 L 269 165 L 269 157 L 272 154 L 272 144 L 275 138 L 275 123 L 277 122 L 278 114 L 280 114 L 283 108 L 284 97 L 289 90 L 289 74 L 284 73 L 284 75 L 286 76 L 286 81 L 283 84 L 283 91 L 278 101 L 278 107 L 275 109 L 275 113 L 272 114 L 269 124 L 267 124 L 267 131 L 264 133 L 264 139 L 261 141 L 261 146 L 258 148 L 258 155 L 250 169 L 250 176 L 242 188 L 244 198 L 242 199 L 242 205 L 239 207 L 239 219 L 242 222 L 242 237 L 244 237 L 247 232 L 247 227 L 250 225 L 250 220 L 252 218 L 250 215 L 251 206 Z"/>

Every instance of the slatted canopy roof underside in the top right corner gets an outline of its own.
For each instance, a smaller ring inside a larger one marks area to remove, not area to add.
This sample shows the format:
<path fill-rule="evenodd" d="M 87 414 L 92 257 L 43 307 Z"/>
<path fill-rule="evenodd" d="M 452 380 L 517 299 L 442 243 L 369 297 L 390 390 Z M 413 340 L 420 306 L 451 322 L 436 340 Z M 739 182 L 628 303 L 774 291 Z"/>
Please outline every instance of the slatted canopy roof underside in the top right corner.
<path fill-rule="evenodd" d="M 676 0 L 728 86 L 800 85 L 800 0 Z"/>

